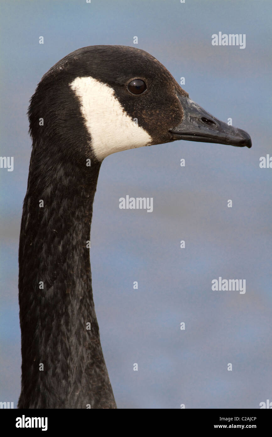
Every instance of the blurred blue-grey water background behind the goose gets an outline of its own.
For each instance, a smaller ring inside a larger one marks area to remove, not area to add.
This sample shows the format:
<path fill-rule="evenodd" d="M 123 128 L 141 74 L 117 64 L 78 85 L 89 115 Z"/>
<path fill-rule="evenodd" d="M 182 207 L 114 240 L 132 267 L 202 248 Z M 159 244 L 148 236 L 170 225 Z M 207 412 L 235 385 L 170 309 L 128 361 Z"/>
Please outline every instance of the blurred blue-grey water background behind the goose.
<path fill-rule="evenodd" d="M 151 53 L 179 83 L 185 77 L 194 101 L 232 118 L 253 144 L 179 141 L 104 160 L 90 257 L 117 406 L 239 409 L 272 401 L 272 169 L 259 167 L 261 156 L 272 156 L 272 4 L 2 0 L 0 7 L 0 156 L 14 156 L 13 172 L 0 169 L 0 401 L 15 407 L 21 385 L 17 252 L 29 99 L 55 62 L 98 44 Z M 246 34 L 245 49 L 213 46 L 219 31 Z M 126 194 L 153 197 L 153 212 L 119 209 Z M 246 293 L 212 291 L 219 276 L 245 279 Z"/>

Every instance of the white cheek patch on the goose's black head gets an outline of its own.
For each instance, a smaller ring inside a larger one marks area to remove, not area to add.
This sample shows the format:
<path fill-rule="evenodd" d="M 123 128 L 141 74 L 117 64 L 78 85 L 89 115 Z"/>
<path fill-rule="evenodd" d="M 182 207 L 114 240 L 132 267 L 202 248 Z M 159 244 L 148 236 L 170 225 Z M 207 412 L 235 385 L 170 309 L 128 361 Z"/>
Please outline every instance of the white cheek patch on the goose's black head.
<path fill-rule="evenodd" d="M 98 160 L 151 143 L 150 135 L 126 114 L 111 87 L 93 77 L 77 77 L 70 87 L 79 97 Z"/>

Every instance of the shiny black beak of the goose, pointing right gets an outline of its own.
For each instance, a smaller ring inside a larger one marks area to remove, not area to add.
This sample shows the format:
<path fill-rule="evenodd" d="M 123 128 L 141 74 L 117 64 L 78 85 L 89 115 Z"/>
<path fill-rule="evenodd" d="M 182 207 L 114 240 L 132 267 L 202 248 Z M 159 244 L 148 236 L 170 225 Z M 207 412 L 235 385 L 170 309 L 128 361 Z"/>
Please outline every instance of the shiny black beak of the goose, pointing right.
<path fill-rule="evenodd" d="M 252 146 L 251 138 L 247 132 L 217 120 L 187 97 L 178 96 L 178 98 L 184 111 L 184 117 L 178 126 L 169 131 L 173 140 L 216 142 L 236 147 L 247 146 L 248 148 Z"/>

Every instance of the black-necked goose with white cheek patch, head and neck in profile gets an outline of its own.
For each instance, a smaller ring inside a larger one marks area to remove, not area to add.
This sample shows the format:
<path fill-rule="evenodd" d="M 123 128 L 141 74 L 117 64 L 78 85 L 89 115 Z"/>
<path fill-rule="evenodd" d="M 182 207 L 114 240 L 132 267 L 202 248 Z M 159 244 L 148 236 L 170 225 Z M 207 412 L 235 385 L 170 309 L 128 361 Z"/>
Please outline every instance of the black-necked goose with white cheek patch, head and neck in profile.
<path fill-rule="evenodd" d="M 38 83 L 28 118 L 18 408 L 115 409 L 86 244 L 102 161 L 179 139 L 250 148 L 251 138 L 192 101 L 149 53 L 118 45 L 84 47 L 57 62 Z"/>

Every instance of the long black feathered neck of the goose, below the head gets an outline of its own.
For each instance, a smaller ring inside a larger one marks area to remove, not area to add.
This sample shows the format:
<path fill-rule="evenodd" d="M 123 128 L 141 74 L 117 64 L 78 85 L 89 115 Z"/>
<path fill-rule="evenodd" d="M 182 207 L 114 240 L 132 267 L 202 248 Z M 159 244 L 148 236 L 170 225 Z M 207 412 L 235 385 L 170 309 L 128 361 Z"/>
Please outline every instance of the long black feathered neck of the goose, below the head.
<path fill-rule="evenodd" d="M 21 222 L 18 408 L 116 408 L 87 243 L 100 163 L 50 159 L 33 149 Z"/>

